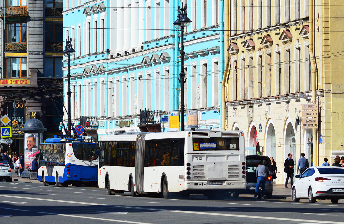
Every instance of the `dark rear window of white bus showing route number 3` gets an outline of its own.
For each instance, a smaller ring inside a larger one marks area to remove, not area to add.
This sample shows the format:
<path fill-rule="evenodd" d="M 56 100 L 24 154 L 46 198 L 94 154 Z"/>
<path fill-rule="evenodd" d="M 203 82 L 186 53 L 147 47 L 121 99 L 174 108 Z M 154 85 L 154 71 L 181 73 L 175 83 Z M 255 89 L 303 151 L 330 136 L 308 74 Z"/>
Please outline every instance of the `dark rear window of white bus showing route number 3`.
<path fill-rule="evenodd" d="M 193 138 L 194 151 L 239 150 L 239 138 Z"/>

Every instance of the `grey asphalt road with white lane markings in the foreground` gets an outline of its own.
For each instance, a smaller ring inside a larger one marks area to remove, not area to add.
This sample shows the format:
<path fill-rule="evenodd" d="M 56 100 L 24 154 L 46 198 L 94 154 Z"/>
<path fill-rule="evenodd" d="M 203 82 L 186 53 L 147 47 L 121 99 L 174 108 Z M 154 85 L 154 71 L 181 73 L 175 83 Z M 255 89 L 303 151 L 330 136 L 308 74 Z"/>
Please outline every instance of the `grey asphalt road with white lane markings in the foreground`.
<path fill-rule="evenodd" d="M 337 224 L 343 219 L 344 204 L 249 197 L 211 201 L 203 195 L 186 200 L 131 197 L 129 193 L 108 195 L 99 188 L 0 181 L 1 223 Z"/>

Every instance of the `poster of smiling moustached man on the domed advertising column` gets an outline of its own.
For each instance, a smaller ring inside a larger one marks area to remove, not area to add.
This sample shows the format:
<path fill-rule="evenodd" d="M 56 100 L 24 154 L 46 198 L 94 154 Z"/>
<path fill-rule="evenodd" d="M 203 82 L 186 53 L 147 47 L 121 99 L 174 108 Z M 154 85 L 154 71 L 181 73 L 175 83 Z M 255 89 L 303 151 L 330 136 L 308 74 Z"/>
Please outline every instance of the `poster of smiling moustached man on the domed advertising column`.
<path fill-rule="evenodd" d="M 38 134 L 24 134 L 24 169 L 32 168 L 32 160 L 36 158 L 38 152 L 39 138 Z"/>

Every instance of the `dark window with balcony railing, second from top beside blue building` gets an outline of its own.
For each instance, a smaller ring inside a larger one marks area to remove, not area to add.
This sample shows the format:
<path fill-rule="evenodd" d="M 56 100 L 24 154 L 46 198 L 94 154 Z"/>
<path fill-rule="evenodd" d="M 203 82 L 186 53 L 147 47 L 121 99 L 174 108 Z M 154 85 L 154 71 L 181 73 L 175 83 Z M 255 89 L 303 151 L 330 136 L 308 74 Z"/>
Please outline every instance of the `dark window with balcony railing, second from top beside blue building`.
<path fill-rule="evenodd" d="M 63 23 L 45 23 L 45 49 L 63 51 Z"/>

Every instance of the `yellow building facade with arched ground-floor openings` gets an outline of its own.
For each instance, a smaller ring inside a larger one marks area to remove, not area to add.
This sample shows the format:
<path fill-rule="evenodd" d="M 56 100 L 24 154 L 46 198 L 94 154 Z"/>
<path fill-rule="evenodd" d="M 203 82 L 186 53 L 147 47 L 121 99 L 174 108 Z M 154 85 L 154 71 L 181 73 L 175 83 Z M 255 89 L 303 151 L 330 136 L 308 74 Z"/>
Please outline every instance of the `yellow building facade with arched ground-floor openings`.
<path fill-rule="evenodd" d="M 259 142 L 277 162 L 277 183 L 285 180 L 289 153 L 295 168 L 302 152 L 320 165 L 344 155 L 341 1 L 228 0 L 226 6 L 225 129 L 244 131 L 246 147 Z M 318 107 L 316 136 L 302 127 L 302 104 Z"/>

